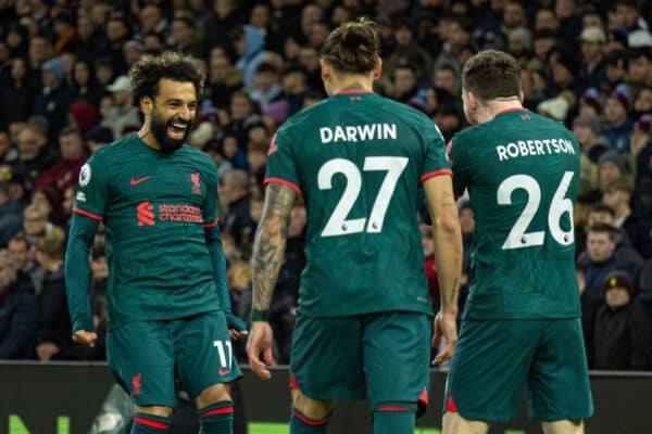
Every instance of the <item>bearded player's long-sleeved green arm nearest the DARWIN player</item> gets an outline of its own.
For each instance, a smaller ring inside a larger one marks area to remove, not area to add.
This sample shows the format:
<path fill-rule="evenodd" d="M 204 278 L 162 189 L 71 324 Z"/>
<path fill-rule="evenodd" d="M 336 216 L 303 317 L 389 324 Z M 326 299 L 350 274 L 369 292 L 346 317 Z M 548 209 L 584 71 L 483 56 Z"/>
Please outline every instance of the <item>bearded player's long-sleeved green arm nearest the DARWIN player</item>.
<path fill-rule="evenodd" d="M 238 340 L 247 335 L 247 323 L 231 311 L 228 283 L 226 281 L 226 258 L 224 257 L 224 246 L 217 220 L 204 225 L 204 231 L 209 254 L 211 255 L 211 264 L 213 265 L 213 280 L 215 281 L 217 296 L 226 316 L 229 335 L 231 339 Z"/>

